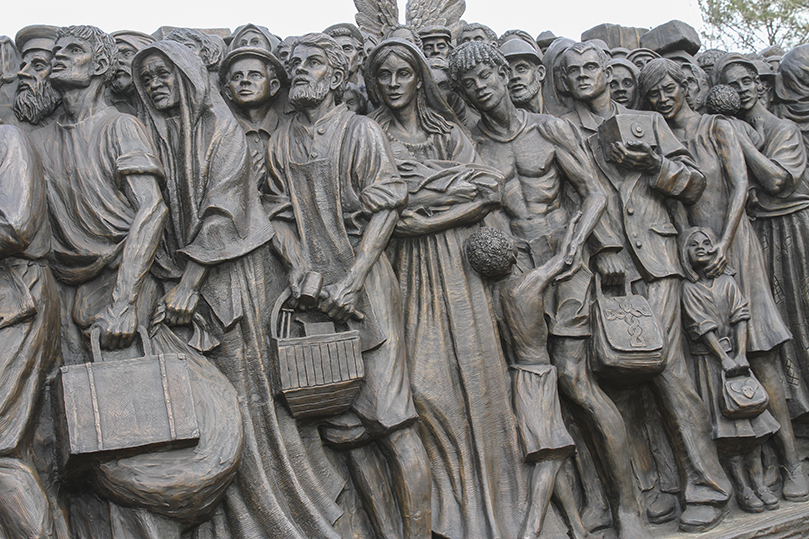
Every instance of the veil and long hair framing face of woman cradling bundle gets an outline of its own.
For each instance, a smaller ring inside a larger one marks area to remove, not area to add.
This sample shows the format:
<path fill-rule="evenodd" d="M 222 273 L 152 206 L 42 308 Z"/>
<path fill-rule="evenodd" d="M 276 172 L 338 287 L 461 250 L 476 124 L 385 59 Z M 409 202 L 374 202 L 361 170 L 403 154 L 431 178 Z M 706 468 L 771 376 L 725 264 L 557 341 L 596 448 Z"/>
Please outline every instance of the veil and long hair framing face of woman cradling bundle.
<path fill-rule="evenodd" d="M 421 87 L 416 91 L 416 116 L 419 127 L 428 134 L 449 133 L 453 124 L 458 124 L 458 120 L 438 91 L 438 86 L 427 66 L 427 60 L 411 43 L 395 38 L 383 41 L 368 56 L 365 69 L 366 86 L 368 96 L 377 106 L 369 115 L 370 118 L 376 120 L 385 130 L 393 121 L 391 110 L 385 105 L 377 85 L 379 69 L 391 55 L 407 62 L 421 81 Z"/>

